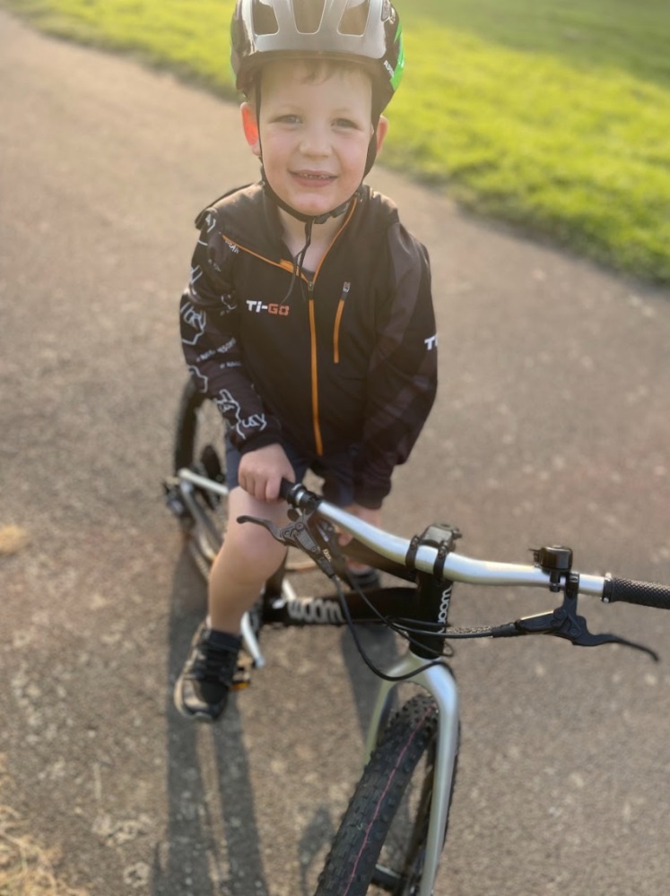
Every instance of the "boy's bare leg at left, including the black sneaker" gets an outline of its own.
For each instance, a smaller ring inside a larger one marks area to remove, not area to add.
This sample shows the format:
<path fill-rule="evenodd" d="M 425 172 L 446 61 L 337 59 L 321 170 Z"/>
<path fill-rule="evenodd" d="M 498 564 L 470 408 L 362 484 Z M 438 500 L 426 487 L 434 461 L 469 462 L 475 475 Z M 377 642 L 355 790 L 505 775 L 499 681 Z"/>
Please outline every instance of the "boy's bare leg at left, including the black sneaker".
<path fill-rule="evenodd" d="M 240 487 L 228 496 L 229 522 L 208 589 L 209 617 L 199 626 L 186 664 L 175 685 L 175 704 L 188 718 L 216 721 L 228 702 L 237 669 L 239 629 L 244 613 L 283 562 L 286 548 L 242 514 L 283 525 L 286 504 L 257 501 Z"/>

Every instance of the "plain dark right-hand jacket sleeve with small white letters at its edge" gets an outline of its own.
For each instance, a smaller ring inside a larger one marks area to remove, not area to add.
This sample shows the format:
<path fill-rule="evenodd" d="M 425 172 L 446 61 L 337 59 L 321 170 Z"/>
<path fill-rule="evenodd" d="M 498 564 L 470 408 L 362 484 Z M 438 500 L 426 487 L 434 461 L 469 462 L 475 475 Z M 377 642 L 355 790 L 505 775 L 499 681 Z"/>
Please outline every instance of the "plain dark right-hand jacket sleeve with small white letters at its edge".
<path fill-rule="evenodd" d="M 430 413 L 438 383 L 431 268 L 424 246 L 396 223 L 389 229 L 390 295 L 379 314 L 370 359 L 363 446 L 354 499 L 379 507 L 394 468 L 405 463 Z"/>

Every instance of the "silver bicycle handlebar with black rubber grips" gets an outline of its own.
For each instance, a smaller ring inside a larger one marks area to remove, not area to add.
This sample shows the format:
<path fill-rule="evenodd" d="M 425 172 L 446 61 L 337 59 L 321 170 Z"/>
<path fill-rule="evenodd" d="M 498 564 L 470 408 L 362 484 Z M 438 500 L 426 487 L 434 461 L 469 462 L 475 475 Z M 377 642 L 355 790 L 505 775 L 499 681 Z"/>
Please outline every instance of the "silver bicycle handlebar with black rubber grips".
<path fill-rule="evenodd" d="M 403 568 L 413 568 L 423 573 L 435 573 L 439 568 L 441 577 L 452 582 L 467 582 L 482 585 L 536 586 L 552 591 L 564 590 L 570 565 L 561 570 L 560 564 L 550 568 L 542 560 L 535 564 L 508 564 L 488 560 L 476 560 L 449 550 L 447 556 L 439 557 L 439 548 L 433 544 L 408 538 L 378 529 L 341 507 L 330 504 L 320 495 L 310 492 L 301 483 L 283 479 L 281 496 L 296 510 L 318 511 L 323 519 L 352 535 L 361 545 L 369 548 L 375 556 L 383 557 L 392 564 Z M 543 556 L 543 551 L 537 556 Z M 550 548 L 550 554 L 558 551 L 570 553 L 569 548 Z M 537 559 L 536 556 L 536 559 Z M 410 559 L 411 558 L 411 559 Z M 439 563 L 439 566 L 438 566 Z M 645 607 L 670 609 L 670 587 L 652 582 L 632 582 L 612 575 L 587 575 L 579 573 L 579 592 L 602 599 L 605 603 L 625 601 Z"/>

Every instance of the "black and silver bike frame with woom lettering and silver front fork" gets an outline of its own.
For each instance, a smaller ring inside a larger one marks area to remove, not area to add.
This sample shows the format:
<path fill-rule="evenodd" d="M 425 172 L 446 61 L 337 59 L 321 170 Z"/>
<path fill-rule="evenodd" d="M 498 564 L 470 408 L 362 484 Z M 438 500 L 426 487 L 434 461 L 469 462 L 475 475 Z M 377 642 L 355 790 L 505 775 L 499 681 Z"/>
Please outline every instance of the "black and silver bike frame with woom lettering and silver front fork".
<path fill-rule="evenodd" d="M 197 475 L 191 470 L 178 471 L 179 490 L 188 512 L 195 521 L 198 544 L 208 557 L 210 562 L 216 556 L 216 549 L 221 543 L 221 536 L 213 529 L 206 513 L 203 512 L 196 500 L 198 491 L 210 492 L 218 497 L 225 498 L 228 488 L 212 479 Z M 397 599 L 405 600 L 421 595 L 422 584 L 418 588 L 404 589 L 380 589 L 376 592 L 374 603 L 381 603 L 385 596 L 391 598 L 395 592 Z M 350 595 L 350 610 L 353 621 L 370 621 L 370 616 L 361 615 L 360 607 L 355 601 L 355 595 Z M 285 627 L 292 625 L 344 625 L 345 620 L 336 598 L 299 598 L 293 589 L 291 582 L 283 576 L 281 593 L 265 598 L 268 616 L 265 621 L 279 623 Z M 302 607 L 300 614 L 291 615 L 291 607 Z M 330 612 L 327 607 L 332 607 Z M 326 609 L 325 609 L 326 608 Z M 386 608 L 385 608 L 386 609 Z M 389 614 L 392 615 L 392 614 Z M 447 619 L 445 615 L 444 623 Z M 249 614 L 245 614 L 242 620 L 242 642 L 244 650 L 253 660 L 254 666 L 265 666 L 265 658 L 254 632 Z M 426 855 L 424 858 L 422 883 L 417 896 L 432 896 L 435 887 L 435 879 L 438 873 L 439 860 L 444 846 L 447 830 L 449 799 L 453 784 L 453 776 L 458 750 L 458 690 L 456 679 L 451 674 L 445 663 L 429 665 L 425 657 L 419 656 L 413 650 L 408 650 L 404 657 L 398 659 L 393 666 L 385 670 L 390 679 L 402 678 L 404 683 L 419 685 L 426 690 L 438 706 L 438 734 L 435 753 L 435 770 L 431 798 L 431 816 L 426 842 Z M 363 755 L 363 765 L 368 762 L 375 746 L 379 741 L 393 700 L 393 694 L 398 686 L 398 681 L 381 679 L 379 693 L 372 711 L 368 725 L 368 733 Z"/>

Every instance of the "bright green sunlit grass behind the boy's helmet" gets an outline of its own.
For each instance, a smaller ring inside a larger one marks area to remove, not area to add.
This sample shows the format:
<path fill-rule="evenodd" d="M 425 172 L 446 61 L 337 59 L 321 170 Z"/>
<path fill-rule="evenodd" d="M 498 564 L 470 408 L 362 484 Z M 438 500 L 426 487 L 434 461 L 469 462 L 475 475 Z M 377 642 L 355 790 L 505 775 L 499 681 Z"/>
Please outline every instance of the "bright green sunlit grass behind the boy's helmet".
<path fill-rule="evenodd" d="M 233 0 L 0 0 L 233 97 Z M 397 0 L 387 165 L 479 213 L 670 283 L 667 0 Z"/>

